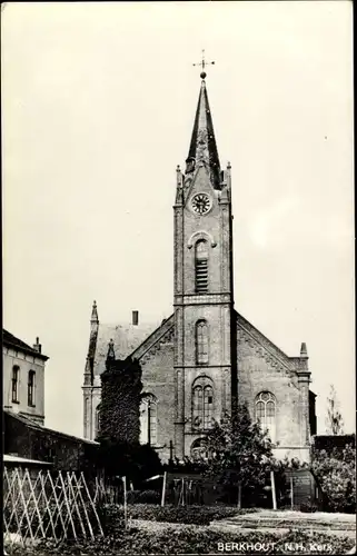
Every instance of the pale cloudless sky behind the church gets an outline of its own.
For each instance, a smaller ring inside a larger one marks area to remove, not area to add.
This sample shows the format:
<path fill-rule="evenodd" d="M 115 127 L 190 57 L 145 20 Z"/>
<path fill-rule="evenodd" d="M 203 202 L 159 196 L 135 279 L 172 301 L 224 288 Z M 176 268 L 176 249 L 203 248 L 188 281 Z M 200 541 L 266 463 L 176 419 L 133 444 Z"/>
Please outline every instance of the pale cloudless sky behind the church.
<path fill-rule="evenodd" d="M 46 425 L 82 436 L 102 322 L 172 311 L 176 167 L 206 50 L 231 163 L 236 309 L 307 344 L 318 433 L 355 430 L 353 3 L 2 4 L 3 326 L 46 366 Z"/>

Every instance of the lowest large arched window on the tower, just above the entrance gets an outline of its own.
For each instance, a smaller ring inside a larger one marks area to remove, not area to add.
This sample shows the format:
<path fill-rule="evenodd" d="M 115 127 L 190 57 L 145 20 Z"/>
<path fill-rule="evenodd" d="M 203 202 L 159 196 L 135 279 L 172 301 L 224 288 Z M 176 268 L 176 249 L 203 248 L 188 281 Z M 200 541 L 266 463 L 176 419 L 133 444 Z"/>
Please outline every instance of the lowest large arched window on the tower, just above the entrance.
<path fill-rule="evenodd" d="M 207 430 L 214 426 L 214 388 L 208 377 L 200 377 L 192 387 L 192 428 Z"/>

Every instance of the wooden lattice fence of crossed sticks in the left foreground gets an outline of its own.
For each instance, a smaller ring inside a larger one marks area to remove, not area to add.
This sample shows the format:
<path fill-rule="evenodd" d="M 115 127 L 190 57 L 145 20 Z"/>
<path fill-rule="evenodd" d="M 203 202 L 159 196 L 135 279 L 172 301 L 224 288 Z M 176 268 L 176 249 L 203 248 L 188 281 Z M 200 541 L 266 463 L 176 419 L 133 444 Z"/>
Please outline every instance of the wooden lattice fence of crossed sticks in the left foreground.
<path fill-rule="evenodd" d="M 2 492 L 4 542 L 103 535 L 83 474 L 4 468 Z"/>

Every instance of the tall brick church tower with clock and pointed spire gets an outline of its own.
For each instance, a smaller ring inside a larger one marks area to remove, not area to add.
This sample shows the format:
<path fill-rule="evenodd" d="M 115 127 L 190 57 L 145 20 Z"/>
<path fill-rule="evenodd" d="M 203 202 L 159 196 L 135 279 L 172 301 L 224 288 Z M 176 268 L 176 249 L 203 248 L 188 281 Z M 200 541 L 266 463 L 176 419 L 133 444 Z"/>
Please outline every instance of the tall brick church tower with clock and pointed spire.
<path fill-rule="evenodd" d="M 230 165 L 221 171 L 206 72 L 175 216 L 175 455 L 201 448 L 237 396 Z"/>

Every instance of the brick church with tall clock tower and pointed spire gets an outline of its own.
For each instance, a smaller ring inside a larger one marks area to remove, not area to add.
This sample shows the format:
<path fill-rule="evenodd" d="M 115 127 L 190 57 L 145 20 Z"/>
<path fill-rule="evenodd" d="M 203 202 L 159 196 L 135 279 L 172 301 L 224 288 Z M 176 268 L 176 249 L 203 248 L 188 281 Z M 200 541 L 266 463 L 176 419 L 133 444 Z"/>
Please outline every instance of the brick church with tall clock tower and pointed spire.
<path fill-rule="evenodd" d="M 140 441 L 162 461 L 205 451 L 205 433 L 231 414 L 235 400 L 268 429 L 276 457 L 308 461 L 316 395 L 306 344 L 290 357 L 235 309 L 231 167 L 220 167 L 206 77 L 202 71 L 186 168 L 176 170 L 172 314 L 150 325 L 132 311 L 131 324 L 105 325 L 95 301 L 82 386 L 85 438 L 99 431 L 100 375 L 110 350 L 141 366 Z"/>

